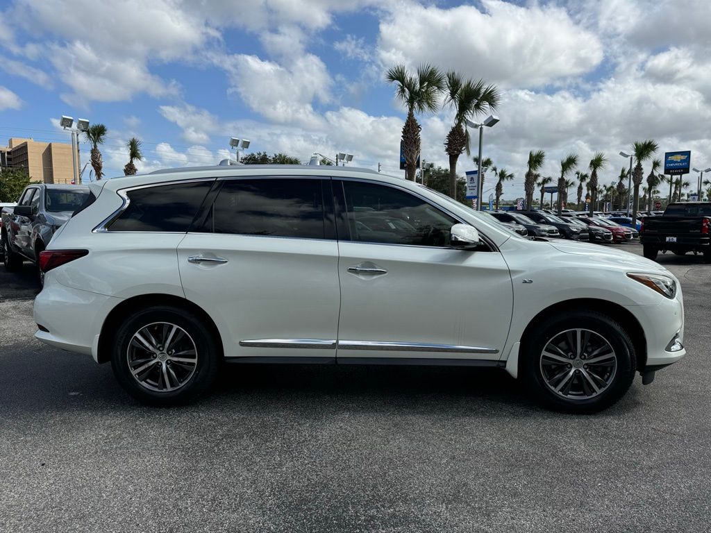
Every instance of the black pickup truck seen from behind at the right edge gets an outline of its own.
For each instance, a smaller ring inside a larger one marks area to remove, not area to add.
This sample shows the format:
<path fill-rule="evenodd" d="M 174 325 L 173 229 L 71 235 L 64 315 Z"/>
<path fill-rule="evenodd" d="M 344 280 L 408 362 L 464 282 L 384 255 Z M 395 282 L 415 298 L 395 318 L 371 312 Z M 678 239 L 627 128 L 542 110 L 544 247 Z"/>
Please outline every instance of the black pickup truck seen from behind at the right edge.
<path fill-rule="evenodd" d="M 639 240 L 647 259 L 656 259 L 660 250 L 701 252 L 711 263 L 711 202 L 670 203 L 661 217 L 642 219 Z"/>

